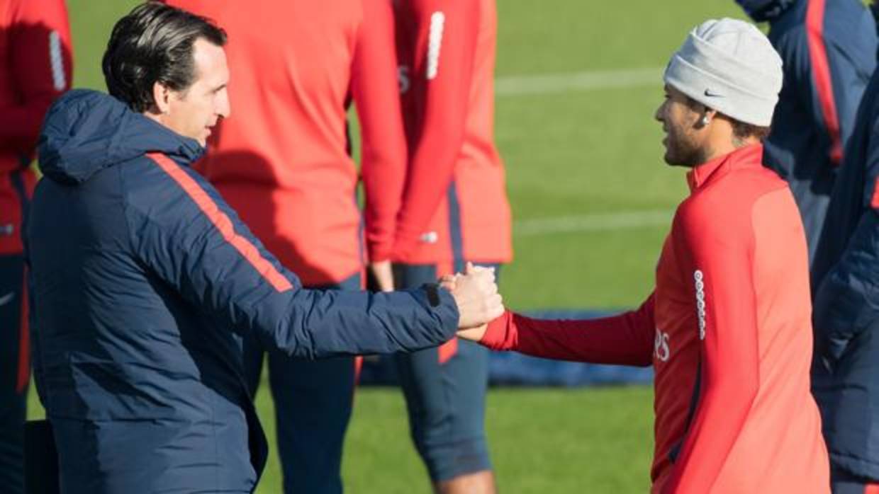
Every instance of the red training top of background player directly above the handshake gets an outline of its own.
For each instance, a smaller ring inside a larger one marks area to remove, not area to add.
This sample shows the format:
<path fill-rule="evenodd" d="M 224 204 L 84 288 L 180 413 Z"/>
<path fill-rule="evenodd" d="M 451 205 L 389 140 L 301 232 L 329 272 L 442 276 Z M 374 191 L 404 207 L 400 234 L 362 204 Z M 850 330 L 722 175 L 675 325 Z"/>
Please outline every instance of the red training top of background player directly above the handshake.
<path fill-rule="evenodd" d="M 395 9 L 409 167 L 392 259 L 510 261 L 493 130 L 495 0 L 400 0 Z"/>

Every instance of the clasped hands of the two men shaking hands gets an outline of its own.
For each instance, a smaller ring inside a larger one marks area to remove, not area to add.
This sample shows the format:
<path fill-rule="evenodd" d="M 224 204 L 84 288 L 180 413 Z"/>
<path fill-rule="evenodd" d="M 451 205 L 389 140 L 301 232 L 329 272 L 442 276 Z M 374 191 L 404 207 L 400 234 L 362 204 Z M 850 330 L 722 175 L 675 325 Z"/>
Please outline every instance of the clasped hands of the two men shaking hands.
<path fill-rule="evenodd" d="M 504 313 L 494 268 L 468 262 L 464 274 L 443 276 L 439 279 L 439 286 L 449 290 L 458 305 L 458 336 L 462 338 L 479 340 L 488 323 Z"/>

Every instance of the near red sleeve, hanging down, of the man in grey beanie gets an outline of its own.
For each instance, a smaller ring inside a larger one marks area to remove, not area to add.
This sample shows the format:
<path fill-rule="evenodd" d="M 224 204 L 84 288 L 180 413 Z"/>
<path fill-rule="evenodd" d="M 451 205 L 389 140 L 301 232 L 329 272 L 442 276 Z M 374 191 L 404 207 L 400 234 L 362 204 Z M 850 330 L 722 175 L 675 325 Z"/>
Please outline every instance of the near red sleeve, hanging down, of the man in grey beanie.
<path fill-rule="evenodd" d="M 701 384 L 664 492 L 711 491 L 759 388 L 752 218 L 724 211 L 723 204 L 691 199 L 672 225 L 679 266 L 694 280 Z"/>

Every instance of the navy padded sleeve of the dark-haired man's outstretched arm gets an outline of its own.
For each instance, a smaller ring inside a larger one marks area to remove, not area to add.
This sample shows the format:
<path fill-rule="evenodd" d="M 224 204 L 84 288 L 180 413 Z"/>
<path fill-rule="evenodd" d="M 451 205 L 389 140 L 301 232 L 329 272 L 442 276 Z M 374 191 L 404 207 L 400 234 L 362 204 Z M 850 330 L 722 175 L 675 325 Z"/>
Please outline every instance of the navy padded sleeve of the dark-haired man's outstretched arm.
<path fill-rule="evenodd" d="M 134 250 L 219 330 L 253 332 L 306 358 L 414 351 L 454 336 L 458 311 L 446 290 L 301 289 L 200 175 L 144 168 L 127 193 Z"/>

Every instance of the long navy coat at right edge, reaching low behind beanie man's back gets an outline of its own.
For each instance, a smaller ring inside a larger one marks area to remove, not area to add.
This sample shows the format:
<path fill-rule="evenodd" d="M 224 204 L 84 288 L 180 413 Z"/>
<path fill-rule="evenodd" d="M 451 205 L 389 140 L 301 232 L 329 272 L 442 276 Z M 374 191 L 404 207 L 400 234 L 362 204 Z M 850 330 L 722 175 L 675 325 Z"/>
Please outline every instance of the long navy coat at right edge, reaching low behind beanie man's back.
<path fill-rule="evenodd" d="M 813 390 L 827 449 L 835 468 L 874 481 L 879 480 L 877 179 L 879 72 L 864 92 L 812 268 L 815 353 L 829 371 Z"/>

